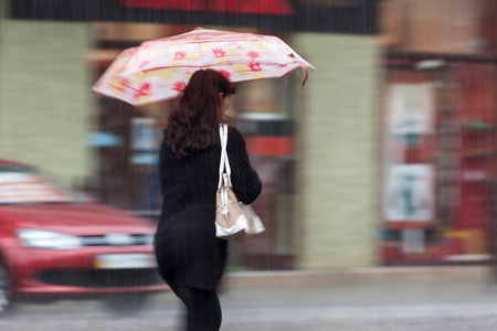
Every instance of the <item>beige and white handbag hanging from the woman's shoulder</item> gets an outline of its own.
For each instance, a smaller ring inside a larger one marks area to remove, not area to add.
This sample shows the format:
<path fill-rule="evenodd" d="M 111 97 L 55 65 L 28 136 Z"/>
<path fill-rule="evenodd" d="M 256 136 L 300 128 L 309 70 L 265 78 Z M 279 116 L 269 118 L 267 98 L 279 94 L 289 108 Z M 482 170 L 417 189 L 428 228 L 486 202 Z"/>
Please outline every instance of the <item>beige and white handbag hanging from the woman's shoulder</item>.
<path fill-rule="evenodd" d="M 220 125 L 221 160 L 215 195 L 215 236 L 243 243 L 265 231 L 261 218 L 251 205 L 239 201 L 232 189 L 230 160 L 228 159 L 228 126 Z"/>

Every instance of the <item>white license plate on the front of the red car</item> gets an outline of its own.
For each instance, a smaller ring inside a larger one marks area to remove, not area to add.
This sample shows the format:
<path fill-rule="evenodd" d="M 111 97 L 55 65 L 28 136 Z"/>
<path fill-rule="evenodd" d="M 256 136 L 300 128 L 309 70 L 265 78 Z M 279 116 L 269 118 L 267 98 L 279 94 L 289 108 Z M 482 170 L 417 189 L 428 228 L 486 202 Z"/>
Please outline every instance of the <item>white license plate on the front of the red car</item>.
<path fill-rule="evenodd" d="M 154 254 L 104 254 L 95 258 L 97 269 L 155 268 Z"/>

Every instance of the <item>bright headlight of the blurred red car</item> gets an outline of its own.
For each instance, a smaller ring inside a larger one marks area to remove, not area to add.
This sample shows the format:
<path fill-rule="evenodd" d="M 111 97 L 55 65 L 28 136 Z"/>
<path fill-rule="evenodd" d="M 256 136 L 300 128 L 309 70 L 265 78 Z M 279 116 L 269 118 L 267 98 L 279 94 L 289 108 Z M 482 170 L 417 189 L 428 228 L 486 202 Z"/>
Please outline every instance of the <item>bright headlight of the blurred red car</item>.
<path fill-rule="evenodd" d="M 59 232 L 24 228 L 18 232 L 22 245 L 31 248 L 71 250 L 82 246 L 81 238 Z"/>

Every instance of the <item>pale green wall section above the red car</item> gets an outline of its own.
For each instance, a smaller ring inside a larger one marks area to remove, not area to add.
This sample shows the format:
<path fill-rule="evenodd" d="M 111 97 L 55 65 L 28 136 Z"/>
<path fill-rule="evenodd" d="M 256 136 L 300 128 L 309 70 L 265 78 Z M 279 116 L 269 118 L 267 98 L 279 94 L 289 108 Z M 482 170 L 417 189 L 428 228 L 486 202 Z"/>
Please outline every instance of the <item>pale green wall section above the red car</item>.
<path fill-rule="evenodd" d="M 82 180 L 91 171 L 87 24 L 0 24 L 0 158 Z"/>

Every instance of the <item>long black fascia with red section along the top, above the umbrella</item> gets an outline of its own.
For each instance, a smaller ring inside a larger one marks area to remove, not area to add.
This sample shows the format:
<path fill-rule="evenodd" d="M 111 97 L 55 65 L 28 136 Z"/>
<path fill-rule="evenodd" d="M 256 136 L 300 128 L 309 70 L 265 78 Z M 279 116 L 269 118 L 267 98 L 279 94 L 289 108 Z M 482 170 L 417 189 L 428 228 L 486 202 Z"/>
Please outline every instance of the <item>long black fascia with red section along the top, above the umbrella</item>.
<path fill-rule="evenodd" d="M 202 1 L 202 6 L 199 1 L 182 1 L 181 6 L 179 2 L 150 0 L 138 6 L 133 0 L 15 0 L 11 12 L 14 19 L 23 20 L 224 25 L 352 34 L 376 31 L 377 0 L 213 0 L 209 6 Z"/>

